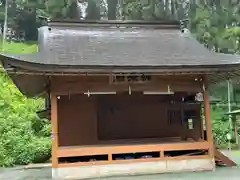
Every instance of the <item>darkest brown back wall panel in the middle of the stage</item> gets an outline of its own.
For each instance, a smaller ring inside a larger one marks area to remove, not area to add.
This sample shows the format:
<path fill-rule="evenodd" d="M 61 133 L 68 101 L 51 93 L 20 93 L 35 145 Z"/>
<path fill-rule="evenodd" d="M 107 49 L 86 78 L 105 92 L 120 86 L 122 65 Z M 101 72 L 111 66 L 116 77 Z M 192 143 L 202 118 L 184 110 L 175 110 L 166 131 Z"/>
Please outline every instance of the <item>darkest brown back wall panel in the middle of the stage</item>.
<path fill-rule="evenodd" d="M 170 137 L 180 135 L 172 131 L 167 121 L 167 96 L 115 95 L 102 97 L 99 110 L 98 135 L 101 140 Z"/>

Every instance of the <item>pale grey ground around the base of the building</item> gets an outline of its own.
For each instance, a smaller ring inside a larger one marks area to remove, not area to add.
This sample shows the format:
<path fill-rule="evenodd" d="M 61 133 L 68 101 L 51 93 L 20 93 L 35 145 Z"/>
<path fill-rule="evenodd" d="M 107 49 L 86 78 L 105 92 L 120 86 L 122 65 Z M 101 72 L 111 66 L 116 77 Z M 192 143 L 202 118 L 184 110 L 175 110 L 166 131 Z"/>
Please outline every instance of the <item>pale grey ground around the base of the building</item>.
<path fill-rule="evenodd" d="M 240 152 L 225 152 L 240 165 Z M 217 168 L 215 172 L 189 172 L 131 177 L 102 178 L 101 180 L 239 180 L 240 168 Z M 0 169 L 0 180 L 51 180 L 51 169 Z"/>

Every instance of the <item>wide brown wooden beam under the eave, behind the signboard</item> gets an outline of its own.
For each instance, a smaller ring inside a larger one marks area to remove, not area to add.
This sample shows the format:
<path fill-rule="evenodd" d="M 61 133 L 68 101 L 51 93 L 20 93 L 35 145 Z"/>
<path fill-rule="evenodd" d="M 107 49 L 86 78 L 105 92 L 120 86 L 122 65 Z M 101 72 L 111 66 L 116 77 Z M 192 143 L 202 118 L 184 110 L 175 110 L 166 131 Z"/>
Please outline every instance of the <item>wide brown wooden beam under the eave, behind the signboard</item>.
<path fill-rule="evenodd" d="M 52 77 L 51 89 L 58 95 L 76 94 L 96 91 L 128 91 L 131 86 L 132 91 L 188 91 L 200 92 L 201 86 L 194 78 L 187 77 L 155 77 L 153 82 L 139 84 L 109 84 L 109 77 Z"/>

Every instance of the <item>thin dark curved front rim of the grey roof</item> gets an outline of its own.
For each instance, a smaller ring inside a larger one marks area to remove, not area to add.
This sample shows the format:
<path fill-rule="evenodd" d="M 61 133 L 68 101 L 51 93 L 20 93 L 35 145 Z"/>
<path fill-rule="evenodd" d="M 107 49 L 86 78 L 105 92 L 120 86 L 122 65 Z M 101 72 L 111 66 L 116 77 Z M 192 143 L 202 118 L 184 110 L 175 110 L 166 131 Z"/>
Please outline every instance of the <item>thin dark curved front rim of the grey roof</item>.
<path fill-rule="evenodd" d="M 34 54 L 33 56 L 38 56 Z M 7 72 L 42 72 L 42 73 L 216 73 L 229 72 L 240 68 L 240 62 L 231 64 L 210 64 L 210 65 L 59 65 L 42 64 L 24 61 L 25 55 L 8 56 L 0 54 L 0 61 Z M 33 57 L 34 58 L 34 57 Z"/>

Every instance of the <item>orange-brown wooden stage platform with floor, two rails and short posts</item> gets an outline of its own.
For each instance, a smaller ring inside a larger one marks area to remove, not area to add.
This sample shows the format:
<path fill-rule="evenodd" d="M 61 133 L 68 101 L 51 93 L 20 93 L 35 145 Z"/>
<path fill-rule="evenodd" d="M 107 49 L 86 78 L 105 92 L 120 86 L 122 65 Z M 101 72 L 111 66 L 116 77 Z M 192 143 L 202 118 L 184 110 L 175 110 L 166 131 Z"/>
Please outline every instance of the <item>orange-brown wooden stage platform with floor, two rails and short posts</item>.
<path fill-rule="evenodd" d="M 210 158 L 206 153 L 204 155 L 181 155 L 168 156 L 169 151 L 187 151 L 203 150 L 208 152 L 209 143 L 206 141 L 181 141 L 179 138 L 167 139 L 143 139 L 143 140 L 117 140 L 117 141 L 100 141 L 95 145 L 67 146 L 60 147 L 57 150 L 58 158 L 63 157 L 82 157 L 82 156 L 107 156 L 106 160 L 94 162 L 74 162 L 59 163 L 59 167 L 86 166 L 86 165 L 103 165 L 133 162 L 151 162 L 159 160 L 177 160 L 177 159 L 201 159 Z M 142 159 L 113 159 L 114 155 L 136 154 L 136 153 L 159 153 L 159 157 L 142 158 Z"/>

